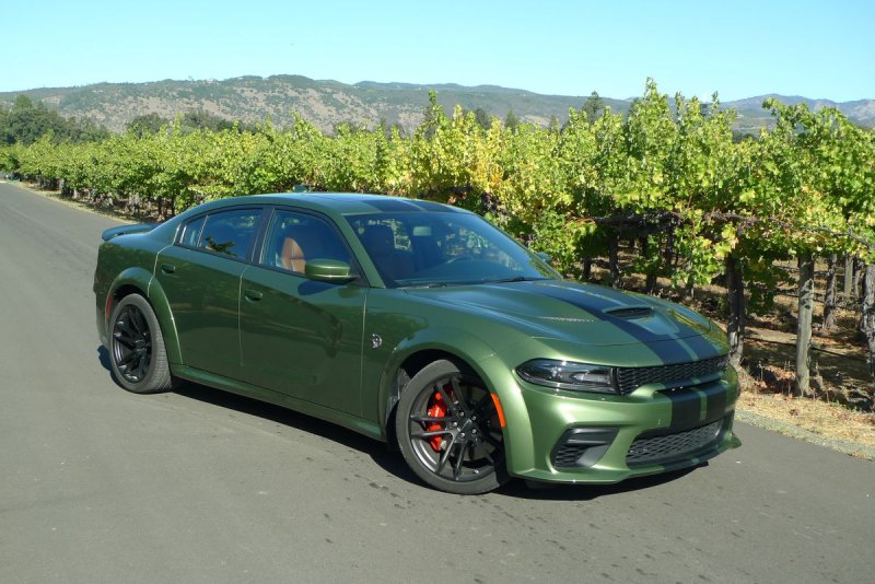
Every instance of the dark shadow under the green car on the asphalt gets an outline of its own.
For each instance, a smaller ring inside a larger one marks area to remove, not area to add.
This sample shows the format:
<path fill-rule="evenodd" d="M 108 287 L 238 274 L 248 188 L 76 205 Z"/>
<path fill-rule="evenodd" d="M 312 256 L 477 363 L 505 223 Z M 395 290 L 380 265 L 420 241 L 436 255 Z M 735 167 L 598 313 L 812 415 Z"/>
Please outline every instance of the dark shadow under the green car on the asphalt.
<path fill-rule="evenodd" d="M 101 365 L 112 372 L 109 366 L 109 353 L 104 347 L 97 349 Z M 115 378 L 114 378 L 115 381 Z M 117 384 L 117 382 L 116 382 Z M 120 386 L 119 386 L 120 387 Z M 248 416 L 270 420 L 272 422 L 322 436 L 325 440 L 342 444 L 343 446 L 361 452 L 371 457 L 383 470 L 397 477 L 398 479 L 421 484 L 417 476 L 408 468 L 399 452 L 392 452 L 386 444 L 373 439 L 348 430 L 343 427 L 325 422 L 318 418 L 307 416 L 281 406 L 275 406 L 265 401 L 258 401 L 236 394 L 213 389 L 205 385 L 185 382 L 174 389 L 174 393 L 189 399 L 196 399 L 205 404 L 238 411 Z M 529 499 L 540 501 L 592 501 L 602 497 L 621 494 L 665 484 L 677 480 L 696 468 L 708 466 L 702 463 L 698 467 L 675 470 L 663 475 L 652 475 L 625 480 L 616 484 L 553 484 L 537 483 L 524 480 L 512 480 L 495 494 L 511 497 L 514 499 Z M 428 487 L 423 486 L 423 489 Z"/>

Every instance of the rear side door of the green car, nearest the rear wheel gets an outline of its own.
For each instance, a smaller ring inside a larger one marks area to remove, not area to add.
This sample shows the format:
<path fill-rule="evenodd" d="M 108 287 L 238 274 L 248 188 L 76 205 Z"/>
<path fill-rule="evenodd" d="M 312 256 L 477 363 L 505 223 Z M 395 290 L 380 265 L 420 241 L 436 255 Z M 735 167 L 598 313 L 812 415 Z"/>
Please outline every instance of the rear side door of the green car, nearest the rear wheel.
<path fill-rule="evenodd" d="M 249 207 L 195 218 L 159 255 L 155 277 L 173 311 L 185 365 L 241 378 L 241 276 L 261 212 Z"/>

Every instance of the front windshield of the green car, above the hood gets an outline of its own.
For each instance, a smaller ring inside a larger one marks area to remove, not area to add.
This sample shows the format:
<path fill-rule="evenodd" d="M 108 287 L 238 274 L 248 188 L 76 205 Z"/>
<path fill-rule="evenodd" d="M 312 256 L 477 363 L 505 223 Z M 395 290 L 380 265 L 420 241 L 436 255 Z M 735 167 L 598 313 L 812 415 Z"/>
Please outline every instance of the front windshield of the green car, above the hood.
<path fill-rule="evenodd" d="M 454 285 L 559 275 L 483 219 L 457 212 L 347 217 L 386 285 Z"/>

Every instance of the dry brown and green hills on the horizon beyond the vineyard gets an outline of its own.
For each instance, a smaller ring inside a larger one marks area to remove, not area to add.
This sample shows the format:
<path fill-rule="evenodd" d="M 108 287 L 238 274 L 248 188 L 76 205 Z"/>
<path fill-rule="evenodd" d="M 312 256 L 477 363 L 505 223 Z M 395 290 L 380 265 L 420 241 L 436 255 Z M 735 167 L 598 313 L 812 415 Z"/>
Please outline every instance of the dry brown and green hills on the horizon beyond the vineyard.
<path fill-rule="evenodd" d="M 438 101 L 447 110 L 455 104 L 466 109 L 482 108 L 504 118 L 513 112 L 520 119 L 546 126 L 552 116 L 564 121 L 569 108 L 580 108 L 586 96 L 542 95 L 525 90 L 495 85 L 465 86 L 457 84 L 377 83 L 362 81 L 353 85 L 331 80 L 313 80 L 302 75 L 255 75 L 217 80 L 164 80 L 149 83 L 97 83 L 81 87 L 43 87 L 0 93 L 0 103 L 10 105 L 19 94 L 40 100 L 68 117 L 92 119 L 113 131 L 124 130 L 135 117 L 154 113 L 172 119 L 180 112 L 203 109 L 232 120 L 261 121 L 270 118 L 277 125 L 292 120 L 292 112 L 330 131 L 340 121 L 374 127 L 381 119 L 398 124 L 411 131 L 422 120 L 428 92 L 438 92 Z M 738 109 L 737 129 L 752 131 L 769 122 L 762 110 L 767 95 L 727 102 Z M 807 103 L 810 107 L 836 106 L 852 120 L 875 125 L 875 101 L 835 103 L 781 96 L 785 103 Z M 604 97 L 615 112 L 627 112 L 631 100 Z"/>

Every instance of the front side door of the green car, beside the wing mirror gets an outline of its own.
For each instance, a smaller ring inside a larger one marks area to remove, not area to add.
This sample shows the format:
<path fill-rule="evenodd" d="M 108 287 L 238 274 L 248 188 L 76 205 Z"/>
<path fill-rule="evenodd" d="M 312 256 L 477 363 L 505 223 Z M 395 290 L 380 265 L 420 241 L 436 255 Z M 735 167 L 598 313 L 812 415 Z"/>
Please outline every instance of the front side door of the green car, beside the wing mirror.
<path fill-rule="evenodd" d="M 353 416 L 361 414 L 362 330 L 368 287 L 308 280 L 306 262 L 355 266 L 327 218 L 277 209 L 260 256 L 241 285 L 246 381 Z"/>

